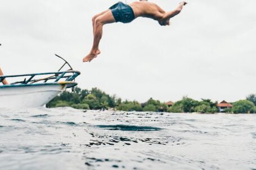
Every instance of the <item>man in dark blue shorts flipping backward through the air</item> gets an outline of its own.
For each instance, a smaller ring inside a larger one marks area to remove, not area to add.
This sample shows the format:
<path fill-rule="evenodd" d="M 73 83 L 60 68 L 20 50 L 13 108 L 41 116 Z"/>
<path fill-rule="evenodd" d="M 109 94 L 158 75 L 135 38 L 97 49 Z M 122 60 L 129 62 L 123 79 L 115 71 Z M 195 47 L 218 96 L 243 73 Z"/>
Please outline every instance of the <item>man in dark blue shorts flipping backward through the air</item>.
<path fill-rule="evenodd" d="M 147 2 L 147 0 L 140 0 L 140 2 L 133 2 L 131 4 L 124 4 L 118 2 L 111 6 L 108 10 L 98 13 L 92 18 L 93 26 L 93 45 L 91 52 L 83 58 L 83 62 L 91 62 L 93 58 L 96 58 L 101 53 L 98 49 L 102 37 L 102 27 L 105 24 L 113 22 L 132 22 L 137 17 L 147 17 L 158 21 L 161 26 L 170 25 L 170 18 L 178 15 L 183 6 L 187 2 L 179 3 L 178 7 L 173 11 L 164 11 L 157 4 Z"/>

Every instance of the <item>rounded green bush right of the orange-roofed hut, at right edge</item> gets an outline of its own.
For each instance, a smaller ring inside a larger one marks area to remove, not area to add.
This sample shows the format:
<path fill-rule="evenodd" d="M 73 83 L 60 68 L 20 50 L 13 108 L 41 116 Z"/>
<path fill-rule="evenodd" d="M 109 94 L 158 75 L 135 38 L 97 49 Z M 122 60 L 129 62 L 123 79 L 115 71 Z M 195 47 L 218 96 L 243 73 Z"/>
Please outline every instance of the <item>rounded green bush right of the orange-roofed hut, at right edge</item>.
<path fill-rule="evenodd" d="M 255 105 L 249 100 L 239 100 L 233 103 L 233 108 L 231 110 L 233 113 L 255 113 Z"/>

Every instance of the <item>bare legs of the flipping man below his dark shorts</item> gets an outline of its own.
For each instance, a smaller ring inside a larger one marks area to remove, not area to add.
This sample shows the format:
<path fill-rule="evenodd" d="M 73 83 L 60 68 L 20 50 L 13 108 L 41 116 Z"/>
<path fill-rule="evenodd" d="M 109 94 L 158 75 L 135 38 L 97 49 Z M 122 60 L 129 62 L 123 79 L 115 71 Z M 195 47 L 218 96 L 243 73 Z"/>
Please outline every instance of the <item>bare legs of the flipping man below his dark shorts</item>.
<path fill-rule="evenodd" d="M 105 24 L 110 24 L 115 22 L 115 18 L 111 12 L 111 10 L 107 11 L 103 15 L 98 16 L 95 19 L 95 31 L 94 31 L 94 38 L 93 38 L 93 45 L 91 52 L 83 58 L 83 62 L 92 61 L 93 58 L 96 58 L 99 54 L 98 45 L 100 43 L 102 37 L 102 28 Z"/>

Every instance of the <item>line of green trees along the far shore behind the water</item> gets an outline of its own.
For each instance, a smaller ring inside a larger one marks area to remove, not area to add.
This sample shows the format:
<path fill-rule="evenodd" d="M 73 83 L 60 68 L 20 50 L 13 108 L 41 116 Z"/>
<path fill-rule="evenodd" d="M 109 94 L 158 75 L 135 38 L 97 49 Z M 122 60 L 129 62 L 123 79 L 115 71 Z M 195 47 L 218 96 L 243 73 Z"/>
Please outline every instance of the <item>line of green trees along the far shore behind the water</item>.
<path fill-rule="evenodd" d="M 217 102 L 210 99 L 200 101 L 188 97 L 174 103 L 171 107 L 167 104 L 150 98 L 146 103 L 139 103 L 136 100 L 122 100 L 115 95 L 106 94 L 98 88 L 91 90 L 74 88 L 72 91 L 64 91 L 47 104 L 48 108 L 53 107 L 73 107 L 76 109 L 109 109 L 114 108 L 119 111 L 137 112 L 172 112 L 172 113 L 216 113 L 219 112 Z M 231 103 L 232 108 L 226 108 L 227 113 L 256 113 L 256 95 L 251 94 L 244 100 Z"/>

